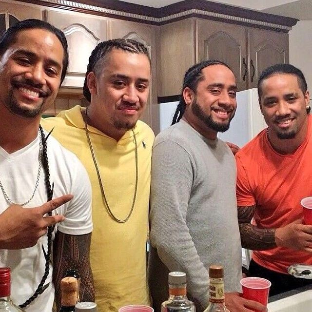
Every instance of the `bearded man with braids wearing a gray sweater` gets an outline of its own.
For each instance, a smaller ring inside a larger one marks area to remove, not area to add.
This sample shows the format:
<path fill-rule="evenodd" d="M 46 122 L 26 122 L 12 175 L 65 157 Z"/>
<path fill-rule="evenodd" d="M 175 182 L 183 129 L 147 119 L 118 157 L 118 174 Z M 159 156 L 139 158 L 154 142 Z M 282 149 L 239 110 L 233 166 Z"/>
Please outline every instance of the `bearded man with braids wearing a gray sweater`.
<path fill-rule="evenodd" d="M 222 264 L 231 312 L 266 311 L 239 296 L 241 245 L 233 153 L 217 132 L 236 110 L 236 80 L 224 63 L 207 60 L 184 76 L 170 128 L 152 154 L 149 282 L 155 311 L 168 298 L 168 273 L 187 274 L 188 297 L 203 311 L 209 302 L 208 267 Z M 181 120 L 180 120 L 181 119 Z"/>

